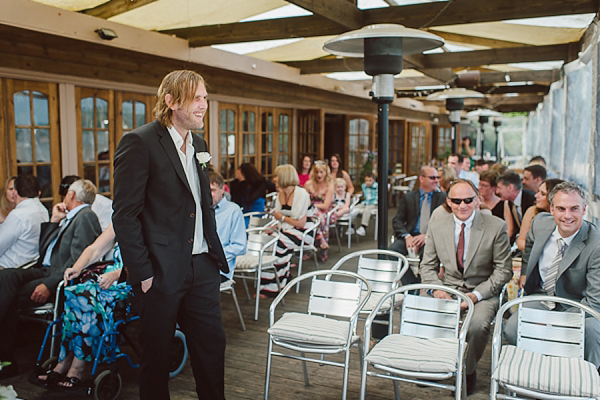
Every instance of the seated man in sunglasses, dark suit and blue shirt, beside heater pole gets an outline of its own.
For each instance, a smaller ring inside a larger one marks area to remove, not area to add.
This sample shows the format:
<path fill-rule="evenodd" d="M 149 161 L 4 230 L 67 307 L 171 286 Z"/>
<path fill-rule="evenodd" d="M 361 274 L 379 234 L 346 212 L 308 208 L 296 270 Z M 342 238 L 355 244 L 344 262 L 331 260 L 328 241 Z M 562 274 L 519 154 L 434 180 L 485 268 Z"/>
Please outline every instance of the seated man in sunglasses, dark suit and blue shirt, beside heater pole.
<path fill-rule="evenodd" d="M 419 188 L 402 196 L 398 212 L 392 220 L 396 240 L 390 246 L 390 250 L 407 255 L 408 249 L 411 249 L 419 256 L 423 255 L 431 213 L 446 200 L 446 194 L 438 190 L 439 179 L 435 168 L 426 165 L 421 167 Z M 411 269 L 404 275 L 402 282 L 417 282 Z"/>

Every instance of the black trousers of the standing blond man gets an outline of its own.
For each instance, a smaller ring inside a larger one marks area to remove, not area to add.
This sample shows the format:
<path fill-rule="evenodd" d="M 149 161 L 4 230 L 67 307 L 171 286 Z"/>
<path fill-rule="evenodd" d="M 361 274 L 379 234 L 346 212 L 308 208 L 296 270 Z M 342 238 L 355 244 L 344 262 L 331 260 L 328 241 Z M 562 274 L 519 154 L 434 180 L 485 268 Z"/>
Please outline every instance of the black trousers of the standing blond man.
<path fill-rule="evenodd" d="M 199 399 L 225 399 L 225 330 L 219 269 L 206 254 L 192 257 L 183 287 L 173 294 L 134 288 L 141 317 L 140 399 L 169 399 L 170 343 L 179 323 L 190 354 Z"/>

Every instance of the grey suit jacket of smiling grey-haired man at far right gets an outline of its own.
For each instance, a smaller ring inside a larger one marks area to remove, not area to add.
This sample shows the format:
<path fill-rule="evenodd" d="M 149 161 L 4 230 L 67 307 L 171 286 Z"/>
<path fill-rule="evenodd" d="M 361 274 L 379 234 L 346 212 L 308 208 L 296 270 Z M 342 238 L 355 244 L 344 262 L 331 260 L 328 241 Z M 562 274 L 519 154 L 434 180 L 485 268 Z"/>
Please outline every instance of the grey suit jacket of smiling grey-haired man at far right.
<path fill-rule="evenodd" d="M 541 213 L 531 222 L 523 250 L 525 293 L 542 293 L 539 259 L 556 223 L 550 213 Z M 583 221 L 579 233 L 567 248 L 558 266 L 556 295 L 579 301 L 600 311 L 600 231 Z"/>

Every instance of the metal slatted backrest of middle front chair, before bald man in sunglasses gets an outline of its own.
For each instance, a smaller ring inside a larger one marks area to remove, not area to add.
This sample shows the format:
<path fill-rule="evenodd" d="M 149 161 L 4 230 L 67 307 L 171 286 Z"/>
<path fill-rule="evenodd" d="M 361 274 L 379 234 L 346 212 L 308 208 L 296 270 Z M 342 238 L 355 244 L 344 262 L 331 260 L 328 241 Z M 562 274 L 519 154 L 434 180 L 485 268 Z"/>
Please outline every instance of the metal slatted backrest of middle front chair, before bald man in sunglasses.
<path fill-rule="evenodd" d="M 402 302 L 402 335 L 421 338 L 457 338 L 460 299 L 437 299 L 405 294 Z"/>

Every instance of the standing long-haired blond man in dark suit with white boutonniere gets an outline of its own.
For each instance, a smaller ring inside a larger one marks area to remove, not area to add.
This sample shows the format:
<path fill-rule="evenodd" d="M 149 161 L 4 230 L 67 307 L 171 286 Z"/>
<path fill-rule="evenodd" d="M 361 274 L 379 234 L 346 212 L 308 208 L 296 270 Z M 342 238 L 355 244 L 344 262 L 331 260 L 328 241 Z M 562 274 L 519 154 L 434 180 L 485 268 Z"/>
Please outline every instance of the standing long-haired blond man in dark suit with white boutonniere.
<path fill-rule="evenodd" d="M 115 155 L 113 226 L 140 304 L 140 398 L 169 399 L 169 343 L 186 335 L 199 398 L 224 399 L 225 332 L 206 142 L 204 79 L 173 71 L 158 89 L 157 120 L 128 133 Z"/>

